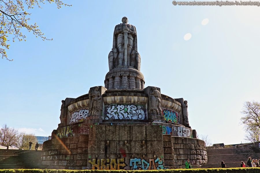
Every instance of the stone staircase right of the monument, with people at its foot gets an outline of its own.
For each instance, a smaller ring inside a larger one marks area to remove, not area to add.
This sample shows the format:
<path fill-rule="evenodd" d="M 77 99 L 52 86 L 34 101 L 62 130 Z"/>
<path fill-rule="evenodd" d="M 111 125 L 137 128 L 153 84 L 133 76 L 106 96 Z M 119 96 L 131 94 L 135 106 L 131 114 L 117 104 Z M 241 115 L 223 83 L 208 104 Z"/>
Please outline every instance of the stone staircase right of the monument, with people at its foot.
<path fill-rule="evenodd" d="M 207 149 L 207 157 L 207 164 L 201 168 L 221 168 L 221 161 L 224 161 L 226 168 L 237 168 L 240 167 L 241 161 L 246 164 L 248 157 L 260 159 L 260 152 L 252 148 Z"/>

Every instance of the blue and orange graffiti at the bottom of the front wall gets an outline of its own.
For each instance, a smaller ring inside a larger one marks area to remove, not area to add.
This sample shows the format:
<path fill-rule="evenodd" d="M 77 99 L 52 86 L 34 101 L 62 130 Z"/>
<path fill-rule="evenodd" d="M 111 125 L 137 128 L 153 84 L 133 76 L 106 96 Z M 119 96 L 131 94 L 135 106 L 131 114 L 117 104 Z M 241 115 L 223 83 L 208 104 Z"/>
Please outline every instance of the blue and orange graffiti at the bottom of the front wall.
<path fill-rule="evenodd" d="M 160 157 L 157 159 L 149 159 L 146 161 L 145 159 L 130 159 L 129 166 L 132 167 L 133 170 L 160 170 L 166 169 L 163 165 L 163 160 Z"/>

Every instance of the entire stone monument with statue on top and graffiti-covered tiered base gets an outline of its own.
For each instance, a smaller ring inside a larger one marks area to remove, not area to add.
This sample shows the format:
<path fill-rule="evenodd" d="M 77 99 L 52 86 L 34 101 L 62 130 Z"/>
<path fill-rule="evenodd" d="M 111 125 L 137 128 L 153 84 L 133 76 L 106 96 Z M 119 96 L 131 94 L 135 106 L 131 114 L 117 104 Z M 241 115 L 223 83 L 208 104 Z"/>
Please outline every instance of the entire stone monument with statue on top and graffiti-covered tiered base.
<path fill-rule="evenodd" d="M 62 100 L 60 121 L 43 143 L 53 169 L 151 170 L 207 163 L 205 142 L 188 121 L 187 101 L 144 88 L 137 33 L 127 17 L 116 25 L 105 87 Z"/>

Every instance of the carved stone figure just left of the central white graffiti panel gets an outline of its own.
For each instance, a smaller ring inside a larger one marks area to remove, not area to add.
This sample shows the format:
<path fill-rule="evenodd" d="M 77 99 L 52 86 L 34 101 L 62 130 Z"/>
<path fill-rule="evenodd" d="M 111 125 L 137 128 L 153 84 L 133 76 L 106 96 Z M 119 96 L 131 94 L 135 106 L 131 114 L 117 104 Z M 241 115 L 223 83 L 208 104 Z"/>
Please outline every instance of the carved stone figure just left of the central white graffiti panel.
<path fill-rule="evenodd" d="M 91 89 L 88 92 L 89 96 L 89 115 L 100 115 L 101 110 L 101 94 L 99 92 L 99 87 L 96 86 L 94 91 Z"/>

